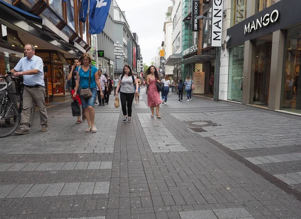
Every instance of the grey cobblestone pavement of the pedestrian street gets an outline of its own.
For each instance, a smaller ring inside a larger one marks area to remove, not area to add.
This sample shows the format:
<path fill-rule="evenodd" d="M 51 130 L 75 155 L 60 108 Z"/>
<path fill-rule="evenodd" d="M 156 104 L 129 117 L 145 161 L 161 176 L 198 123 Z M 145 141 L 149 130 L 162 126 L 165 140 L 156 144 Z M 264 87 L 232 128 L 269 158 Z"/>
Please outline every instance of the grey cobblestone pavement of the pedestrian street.
<path fill-rule="evenodd" d="M 37 119 L 0 139 L 0 218 L 301 218 L 299 200 L 228 152 L 299 190 L 300 117 L 170 93 L 150 118 L 144 89 L 133 108 L 122 123 L 113 101 L 95 106 L 93 134 L 65 103 L 48 132 Z"/>

